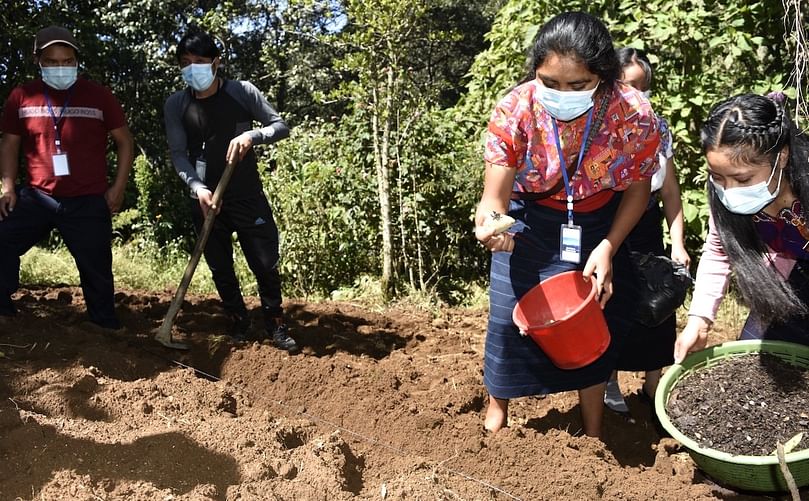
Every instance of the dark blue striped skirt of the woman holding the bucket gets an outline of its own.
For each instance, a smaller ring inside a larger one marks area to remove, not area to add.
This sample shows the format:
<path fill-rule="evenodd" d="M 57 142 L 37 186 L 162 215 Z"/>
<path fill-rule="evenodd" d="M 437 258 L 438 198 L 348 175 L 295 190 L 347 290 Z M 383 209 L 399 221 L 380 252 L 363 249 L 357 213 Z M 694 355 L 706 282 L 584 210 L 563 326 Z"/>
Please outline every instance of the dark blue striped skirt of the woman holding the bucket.
<path fill-rule="evenodd" d="M 606 381 L 615 368 L 623 339 L 632 327 L 633 287 L 626 249 L 621 246 L 613 258 L 613 296 L 604 315 L 610 329 L 607 351 L 580 369 L 559 369 L 528 336 L 521 336 L 511 315 L 517 301 L 540 281 L 568 270 L 582 269 L 590 252 L 607 235 L 621 194 L 600 209 L 577 213 L 574 222 L 582 227 L 582 262 L 560 261 L 559 231 L 567 222 L 563 211 L 533 202 L 512 201 L 509 215 L 513 227 L 512 252 L 495 252 L 491 261 L 489 323 L 486 332 L 483 382 L 496 398 L 515 398 L 586 388 Z"/>

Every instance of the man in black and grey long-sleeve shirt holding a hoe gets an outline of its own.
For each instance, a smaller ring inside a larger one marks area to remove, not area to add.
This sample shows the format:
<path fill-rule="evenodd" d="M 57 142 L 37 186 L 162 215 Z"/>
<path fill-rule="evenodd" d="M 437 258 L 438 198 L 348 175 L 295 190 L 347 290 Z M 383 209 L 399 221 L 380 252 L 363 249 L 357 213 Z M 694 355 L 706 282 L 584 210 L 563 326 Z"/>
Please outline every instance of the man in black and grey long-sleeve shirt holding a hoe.
<path fill-rule="evenodd" d="M 189 87 L 166 100 L 166 134 L 174 167 L 198 200 L 192 203 L 197 233 L 227 160 L 238 161 L 204 251 L 219 296 L 233 317 L 233 335 L 242 340 L 250 328 L 233 269 L 231 235 L 235 231 L 258 283 L 267 336 L 277 347 L 297 352 L 283 321 L 278 228 L 253 151 L 255 144 L 288 137 L 289 128 L 254 85 L 216 76 L 219 49 L 208 34 L 184 36 L 177 46 L 177 60 Z M 254 129 L 254 121 L 261 128 Z"/>

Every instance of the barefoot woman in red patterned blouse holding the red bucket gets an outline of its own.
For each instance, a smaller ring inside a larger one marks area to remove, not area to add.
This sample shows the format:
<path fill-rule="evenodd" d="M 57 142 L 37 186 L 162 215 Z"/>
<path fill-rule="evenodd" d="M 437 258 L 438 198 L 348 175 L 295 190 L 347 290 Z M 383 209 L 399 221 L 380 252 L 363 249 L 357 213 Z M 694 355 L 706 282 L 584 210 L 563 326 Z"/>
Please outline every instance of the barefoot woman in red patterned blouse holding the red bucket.
<path fill-rule="evenodd" d="M 507 424 L 511 398 L 579 390 L 584 432 L 601 433 L 605 381 L 637 294 L 622 242 L 646 209 L 660 143 L 649 102 L 619 83 L 619 73 L 603 23 L 560 14 L 537 33 L 528 78 L 492 113 L 475 216 L 476 237 L 492 251 L 483 370 L 488 430 Z M 517 223 L 495 234 L 493 213 Z M 560 228 L 570 219 L 582 230 L 581 264 L 560 255 Z M 593 363 L 564 370 L 519 334 L 511 315 L 529 289 L 572 269 L 596 281 L 611 343 Z"/>

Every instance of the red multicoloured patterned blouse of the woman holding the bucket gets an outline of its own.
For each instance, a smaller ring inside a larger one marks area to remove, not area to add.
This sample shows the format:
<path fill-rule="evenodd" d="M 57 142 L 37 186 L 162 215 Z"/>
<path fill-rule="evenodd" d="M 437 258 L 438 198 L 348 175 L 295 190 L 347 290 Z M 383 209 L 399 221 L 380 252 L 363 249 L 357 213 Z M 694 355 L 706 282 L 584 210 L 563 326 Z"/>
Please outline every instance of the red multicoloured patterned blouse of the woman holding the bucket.
<path fill-rule="evenodd" d="M 489 121 L 483 158 L 515 167 L 514 191 L 518 192 L 547 191 L 562 177 L 553 117 L 537 99 L 540 85 L 532 80 L 512 89 Z M 594 100 L 597 107 L 600 93 Z M 596 109 L 593 120 L 597 114 Z M 557 122 L 569 168 L 579 155 L 586 122 L 587 113 L 570 122 Z M 660 142 L 649 101 L 634 88 L 616 82 L 604 121 L 572 179 L 573 198 L 581 200 L 605 189 L 625 190 L 633 182 L 652 176 L 658 168 Z M 564 200 L 564 189 L 551 198 Z"/>

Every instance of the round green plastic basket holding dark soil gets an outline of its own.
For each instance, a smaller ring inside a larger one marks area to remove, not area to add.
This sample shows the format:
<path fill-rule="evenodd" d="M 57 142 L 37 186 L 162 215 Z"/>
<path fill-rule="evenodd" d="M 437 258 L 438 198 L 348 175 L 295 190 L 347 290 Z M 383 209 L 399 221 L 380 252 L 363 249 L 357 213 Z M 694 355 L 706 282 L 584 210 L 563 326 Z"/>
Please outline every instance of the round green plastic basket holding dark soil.
<path fill-rule="evenodd" d="M 731 341 L 692 353 L 682 364 L 673 365 L 660 379 L 655 396 L 655 412 L 663 428 L 685 447 L 697 466 L 713 479 L 742 490 L 784 492 L 789 488 L 778 465 L 771 456 L 735 456 L 700 446 L 674 427 L 666 414 L 666 404 L 672 389 L 685 376 L 733 356 L 767 353 L 798 367 L 809 368 L 809 346 L 783 341 Z M 787 466 L 797 486 L 809 485 L 809 449 L 785 456 Z"/>

